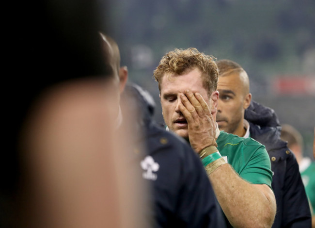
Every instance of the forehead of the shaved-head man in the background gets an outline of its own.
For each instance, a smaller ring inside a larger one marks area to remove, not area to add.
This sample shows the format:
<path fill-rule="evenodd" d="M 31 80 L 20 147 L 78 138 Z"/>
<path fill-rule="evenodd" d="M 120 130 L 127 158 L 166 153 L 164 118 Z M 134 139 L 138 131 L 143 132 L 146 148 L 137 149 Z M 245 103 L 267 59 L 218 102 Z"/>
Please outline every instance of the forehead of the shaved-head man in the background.
<path fill-rule="evenodd" d="M 230 74 L 219 77 L 218 90 L 232 90 L 242 93 L 244 90 L 244 80 L 241 74 L 242 72 L 233 71 Z"/>

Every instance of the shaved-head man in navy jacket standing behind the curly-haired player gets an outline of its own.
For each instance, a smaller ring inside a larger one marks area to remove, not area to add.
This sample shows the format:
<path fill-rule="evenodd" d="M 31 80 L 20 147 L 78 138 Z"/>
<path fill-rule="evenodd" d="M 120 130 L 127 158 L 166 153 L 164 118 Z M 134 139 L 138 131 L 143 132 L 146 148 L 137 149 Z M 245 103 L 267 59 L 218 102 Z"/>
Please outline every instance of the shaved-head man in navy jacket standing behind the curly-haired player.
<path fill-rule="evenodd" d="M 273 172 L 271 185 L 277 202 L 272 227 L 310 227 L 310 212 L 298 163 L 280 139 L 281 127 L 275 112 L 252 101 L 249 78 L 240 65 L 231 60 L 219 60 L 217 65 L 219 129 L 251 137 L 268 151 Z"/>

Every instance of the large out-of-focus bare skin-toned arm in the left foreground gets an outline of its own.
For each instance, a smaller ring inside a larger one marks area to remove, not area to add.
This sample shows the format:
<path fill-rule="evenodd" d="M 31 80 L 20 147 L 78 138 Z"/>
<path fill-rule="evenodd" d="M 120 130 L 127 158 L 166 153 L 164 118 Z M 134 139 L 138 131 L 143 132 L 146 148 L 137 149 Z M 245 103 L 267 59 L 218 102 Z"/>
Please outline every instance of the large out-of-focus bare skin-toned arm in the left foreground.
<path fill-rule="evenodd" d="M 115 86 L 72 80 L 34 104 L 20 141 L 21 227 L 146 227 L 138 208 L 144 185 L 128 163 L 131 135 L 115 131 Z"/>

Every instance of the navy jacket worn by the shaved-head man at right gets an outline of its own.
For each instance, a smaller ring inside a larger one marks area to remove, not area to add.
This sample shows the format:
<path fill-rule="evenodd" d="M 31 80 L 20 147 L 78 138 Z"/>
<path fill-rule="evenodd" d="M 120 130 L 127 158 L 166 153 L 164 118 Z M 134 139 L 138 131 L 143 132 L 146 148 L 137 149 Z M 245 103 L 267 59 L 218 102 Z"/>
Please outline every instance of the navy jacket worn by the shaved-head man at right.
<path fill-rule="evenodd" d="M 273 228 L 310 228 L 311 212 L 299 165 L 287 143 L 280 138 L 281 126 L 274 110 L 252 101 L 245 111 L 250 123 L 250 136 L 266 146 L 271 170 L 272 189 L 277 213 Z"/>

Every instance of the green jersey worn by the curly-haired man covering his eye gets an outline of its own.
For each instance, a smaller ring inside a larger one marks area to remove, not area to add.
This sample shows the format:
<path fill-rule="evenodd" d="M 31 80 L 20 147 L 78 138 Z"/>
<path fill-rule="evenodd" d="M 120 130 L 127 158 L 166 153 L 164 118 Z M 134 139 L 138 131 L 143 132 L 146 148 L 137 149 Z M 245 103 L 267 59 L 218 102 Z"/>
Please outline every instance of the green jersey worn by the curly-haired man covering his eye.
<path fill-rule="evenodd" d="M 264 145 L 222 130 L 217 144 L 222 157 L 242 179 L 252 184 L 267 184 L 271 188 L 271 163 Z"/>

